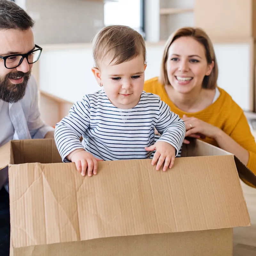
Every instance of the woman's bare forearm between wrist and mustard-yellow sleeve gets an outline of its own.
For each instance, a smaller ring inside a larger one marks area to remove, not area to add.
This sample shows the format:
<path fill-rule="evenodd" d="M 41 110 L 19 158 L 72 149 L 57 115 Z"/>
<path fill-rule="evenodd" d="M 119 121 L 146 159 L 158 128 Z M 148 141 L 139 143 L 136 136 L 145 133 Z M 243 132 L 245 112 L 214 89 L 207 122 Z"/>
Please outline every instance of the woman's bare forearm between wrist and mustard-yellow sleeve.
<path fill-rule="evenodd" d="M 243 147 L 241 147 L 235 140 L 233 140 L 225 132 L 219 130 L 214 139 L 216 140 L 220 148 L 234 154 L 243 164 L 248 164 L 249 152 Z"/>

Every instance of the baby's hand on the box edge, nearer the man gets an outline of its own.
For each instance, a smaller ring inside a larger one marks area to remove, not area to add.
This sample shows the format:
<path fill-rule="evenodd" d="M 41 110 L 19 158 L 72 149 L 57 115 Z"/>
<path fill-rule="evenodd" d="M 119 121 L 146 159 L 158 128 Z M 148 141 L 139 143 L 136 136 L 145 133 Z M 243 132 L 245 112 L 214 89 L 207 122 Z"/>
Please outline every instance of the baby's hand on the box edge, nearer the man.
<path fill-rule="evenodd" d="M 72 151 L 67 159 L 76 164 L 76 169 L 85 176 L 86 169 L 89 177 L 97 174 L 98 163 L 97 161 L 103 161 L 94 157 L 91 153 L 85 151 L 84 149 L 76 149 Z"/>

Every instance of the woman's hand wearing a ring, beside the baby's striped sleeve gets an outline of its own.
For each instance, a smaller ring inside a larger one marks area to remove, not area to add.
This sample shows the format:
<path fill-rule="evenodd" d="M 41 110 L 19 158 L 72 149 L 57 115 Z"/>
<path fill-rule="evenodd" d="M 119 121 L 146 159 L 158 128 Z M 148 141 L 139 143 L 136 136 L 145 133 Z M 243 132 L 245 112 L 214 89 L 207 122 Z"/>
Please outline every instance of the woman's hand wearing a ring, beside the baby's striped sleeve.
<path fill-rule="evenodd" d="M 182 120 L 186 125 L 185 137 L 192 137 L 197 139 L 205 139 L 205 137 L 208 137 L 216 139 L 218 134 L 221 132 L 220 128 L 197 119 L 196 117 L 188 117 L 183 115 Z M 189 141 L 184 140 L 184 143 L 189 144 Z"/>

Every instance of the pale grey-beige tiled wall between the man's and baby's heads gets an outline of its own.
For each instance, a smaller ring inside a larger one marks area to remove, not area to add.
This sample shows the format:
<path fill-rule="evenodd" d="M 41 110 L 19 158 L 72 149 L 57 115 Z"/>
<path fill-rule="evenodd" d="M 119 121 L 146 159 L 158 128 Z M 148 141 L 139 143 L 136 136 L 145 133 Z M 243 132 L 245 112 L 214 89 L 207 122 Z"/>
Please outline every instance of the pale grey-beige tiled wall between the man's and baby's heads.
<path fill-rule="evenodd" d="M 33 32 L 40 46 L 91 42 L 104 26 L 103 1 L 26 0 L 26 11 L 35 20 Z"/>

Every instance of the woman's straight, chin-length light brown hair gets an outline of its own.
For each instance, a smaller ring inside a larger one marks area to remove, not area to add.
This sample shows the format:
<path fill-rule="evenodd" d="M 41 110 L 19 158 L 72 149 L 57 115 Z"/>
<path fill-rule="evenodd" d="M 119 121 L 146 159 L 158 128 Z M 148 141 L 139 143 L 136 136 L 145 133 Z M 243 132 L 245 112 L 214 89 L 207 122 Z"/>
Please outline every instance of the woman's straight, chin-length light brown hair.
<path fill-rule="evenodd" d="M 212 61 L 214 61 L 214 67 L 212 69 L 212 72 L 209 76 L 204 76 L 203 80 L 203 88 L 206 89 L 214 89 L 217 86 L 217 78 L 218 78 L 218 65 L 217 65 L 217 60 L 215 57 L 215 52 L 213 49 L 212 42 L 207 36 L 207 34 L 204 32 L 204 30 L 200 28 L 180 28 L 176 30 L 174 33 L 172 33 L 171 36 L 167 39 L 164 47 L 164 54 L 163 54 L 163 59 L 162 59 L 162 66 L 161 66 L 161 72 L 160 72 L 160 77 L 159 77 L 159 82 L 162 84 L 169 84 L 170 81 L 167 76 L 167 71 L 166 71 L 166 61 L 168 58 L 168 52 L 171 44 L 178 38 L 182 36 L 190 36 L 194 38 L 197 42 L 202 44 L 205 49 L 205 56 L 208 64 L 211 64 Z"/>

